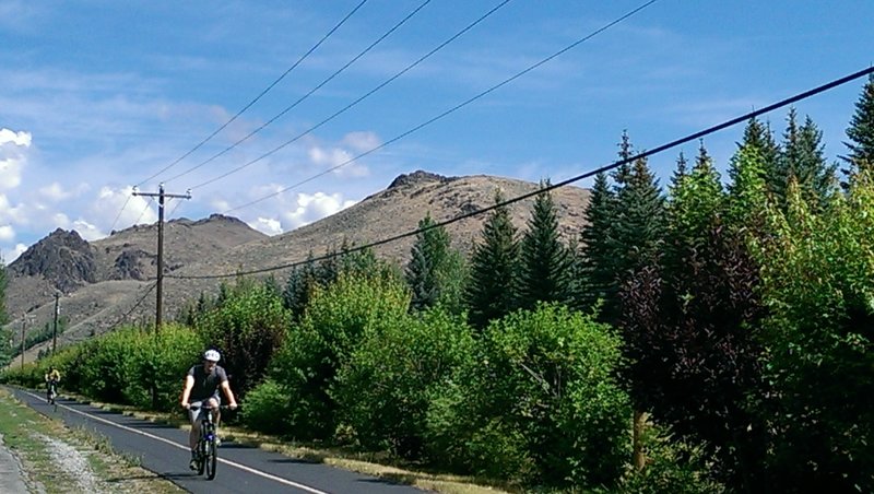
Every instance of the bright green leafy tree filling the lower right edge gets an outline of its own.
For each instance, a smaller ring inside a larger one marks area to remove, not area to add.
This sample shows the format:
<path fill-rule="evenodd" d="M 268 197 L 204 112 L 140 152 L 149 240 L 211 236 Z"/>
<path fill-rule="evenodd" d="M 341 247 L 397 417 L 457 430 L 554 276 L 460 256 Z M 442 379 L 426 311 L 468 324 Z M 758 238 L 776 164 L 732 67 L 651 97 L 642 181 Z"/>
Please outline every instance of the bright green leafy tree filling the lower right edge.
<path fill-rule="evenodd" d="M 820 213 L 791 188 L 763 246 L 767 376 L 759 412 L 783 492 L 874 491 L 874 184 L 860 175 Z"/>

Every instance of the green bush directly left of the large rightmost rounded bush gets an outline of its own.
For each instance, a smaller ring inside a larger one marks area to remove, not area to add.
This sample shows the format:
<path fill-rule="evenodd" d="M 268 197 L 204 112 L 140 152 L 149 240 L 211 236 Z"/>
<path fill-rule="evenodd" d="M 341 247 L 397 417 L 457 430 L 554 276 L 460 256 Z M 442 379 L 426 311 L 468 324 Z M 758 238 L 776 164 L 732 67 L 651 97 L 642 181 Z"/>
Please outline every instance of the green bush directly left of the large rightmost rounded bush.
<path fill-rule="evenodd" d="M 416 459 L 432 396 L 470 357 L 472 331 L 442 308 L 376 322 L 340 369 L 332 397 L 361 446 Z"/>

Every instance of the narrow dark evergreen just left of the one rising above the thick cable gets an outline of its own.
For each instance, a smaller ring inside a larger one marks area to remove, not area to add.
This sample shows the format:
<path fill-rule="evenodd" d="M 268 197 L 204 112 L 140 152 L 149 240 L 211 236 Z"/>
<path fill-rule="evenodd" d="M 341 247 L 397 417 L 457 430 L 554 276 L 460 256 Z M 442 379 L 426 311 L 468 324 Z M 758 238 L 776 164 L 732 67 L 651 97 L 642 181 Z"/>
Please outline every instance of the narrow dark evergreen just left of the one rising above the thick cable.
<path fill-rule="evenodd" d="M 604 173 L 595 175 L 594 184 L 586 204 L 583 217 L 586 228 L 580 234 L 580 254 L 577 257 L 577 284 L 574 306 L 583 311 L 591 309 L 598 301 L 604 301 L 602 315 L 615 301 L 616 280 L 611 240 L 616 197 Z"/>

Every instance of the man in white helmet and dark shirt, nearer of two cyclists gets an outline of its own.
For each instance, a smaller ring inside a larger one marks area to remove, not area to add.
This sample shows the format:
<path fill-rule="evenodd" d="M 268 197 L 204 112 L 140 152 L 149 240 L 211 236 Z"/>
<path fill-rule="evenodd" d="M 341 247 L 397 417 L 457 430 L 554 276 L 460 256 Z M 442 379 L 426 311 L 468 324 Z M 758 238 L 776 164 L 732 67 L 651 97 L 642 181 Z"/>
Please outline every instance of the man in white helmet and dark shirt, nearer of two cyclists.
<path fill-rule="evenodd" d="M 180 404 L 188 410 L 188 419 L 191 421 L 191 432 L 188 435 L 188 445 L 191 447 L 191 462 L 189 463 L 191 470 L 198 468 L 197 445 L 200 437 L 200 420 L 201 413 L 205 412 L 202 407 L 212 408 L 216 427 L 220 419 L 218 405 L 222 403 L 218 395 L 220 388 L 227 398 L 228 408 L 232 410 L 237 408 L 237 401 L 234 399 L 234 392 L 231 391 L 231 385 L 227 381 L 227 374 L 217 364 L 221 358 L 222 355 L 215 350 L 206 350 L 203 353 L 203 364 L 191 367 L 185 377 Z"/>

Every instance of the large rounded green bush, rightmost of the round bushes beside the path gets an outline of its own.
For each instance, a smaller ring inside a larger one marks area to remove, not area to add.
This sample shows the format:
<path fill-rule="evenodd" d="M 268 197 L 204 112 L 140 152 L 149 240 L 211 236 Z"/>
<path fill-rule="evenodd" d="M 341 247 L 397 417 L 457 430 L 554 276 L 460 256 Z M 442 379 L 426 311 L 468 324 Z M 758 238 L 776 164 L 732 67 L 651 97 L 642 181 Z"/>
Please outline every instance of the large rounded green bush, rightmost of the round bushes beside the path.
<path fill-rule="evenodd" d="M 563 306 L 493 321 L 429 411 L 432 458 L 525 483 L 615 483 L 630 454 L 619 346 L 607 326 Z"/>

